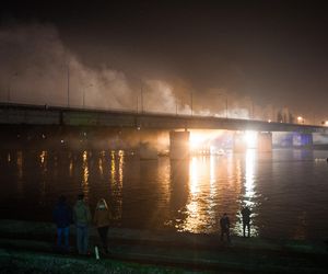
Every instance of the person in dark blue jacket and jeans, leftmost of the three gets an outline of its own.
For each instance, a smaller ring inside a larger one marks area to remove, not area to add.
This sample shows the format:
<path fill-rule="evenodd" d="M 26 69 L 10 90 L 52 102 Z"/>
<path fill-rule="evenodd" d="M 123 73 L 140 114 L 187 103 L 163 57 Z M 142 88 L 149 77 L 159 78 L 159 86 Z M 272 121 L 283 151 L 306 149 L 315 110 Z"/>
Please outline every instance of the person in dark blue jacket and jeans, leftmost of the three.
<path fill-rule="evenodd" d="M 57 248 L 62 251 L 69 251 L 69 232 L 70 225 L 72 224 L 72 210 L 67 204 L 65 196 L 61 195 L 59 197 L 52 214 L 57 226 Z"/>

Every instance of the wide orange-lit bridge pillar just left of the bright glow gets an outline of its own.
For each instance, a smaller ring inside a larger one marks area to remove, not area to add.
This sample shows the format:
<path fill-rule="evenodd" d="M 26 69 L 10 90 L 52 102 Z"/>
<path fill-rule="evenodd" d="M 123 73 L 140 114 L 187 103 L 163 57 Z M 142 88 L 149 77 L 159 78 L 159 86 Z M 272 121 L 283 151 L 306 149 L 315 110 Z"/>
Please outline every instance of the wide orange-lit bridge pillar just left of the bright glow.
<path fill-rule="evenodd" d="M 169 132 L 169 158 L 181 160 L 189 158 L 189 132 Z"/>

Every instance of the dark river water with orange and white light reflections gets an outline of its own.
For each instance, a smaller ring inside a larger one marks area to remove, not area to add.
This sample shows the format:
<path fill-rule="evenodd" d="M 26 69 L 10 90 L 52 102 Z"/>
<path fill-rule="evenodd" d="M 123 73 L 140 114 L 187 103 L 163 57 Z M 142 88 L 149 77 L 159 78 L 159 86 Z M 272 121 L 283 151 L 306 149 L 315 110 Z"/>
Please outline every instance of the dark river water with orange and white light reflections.
<path fill-rule="evenodd" d="M 242 235 L 242 205 L 251 209 L 251 235 L 328 238 L 328 151 L 226 151 L 185 161 L 139 160 L 121 150 L 0 151 L 1 218 L 51 220 L 63 194 L 83 192 L 93 212 L 106 198 L 113 226 L 195 233 L 219 231 L 227 213 Z"/>

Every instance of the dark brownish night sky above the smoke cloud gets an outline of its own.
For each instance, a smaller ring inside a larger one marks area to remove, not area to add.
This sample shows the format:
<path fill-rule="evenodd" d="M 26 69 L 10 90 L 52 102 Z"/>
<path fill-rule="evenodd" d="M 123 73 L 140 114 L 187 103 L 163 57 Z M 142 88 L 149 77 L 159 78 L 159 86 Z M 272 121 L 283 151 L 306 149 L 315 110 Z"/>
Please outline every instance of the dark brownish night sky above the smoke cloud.
<path fill-rule="evenodd" d="M 51 23 L 91 68 L 328 115 L 324 1 L 81 2 L 2 3 L 2 25 Z"/>

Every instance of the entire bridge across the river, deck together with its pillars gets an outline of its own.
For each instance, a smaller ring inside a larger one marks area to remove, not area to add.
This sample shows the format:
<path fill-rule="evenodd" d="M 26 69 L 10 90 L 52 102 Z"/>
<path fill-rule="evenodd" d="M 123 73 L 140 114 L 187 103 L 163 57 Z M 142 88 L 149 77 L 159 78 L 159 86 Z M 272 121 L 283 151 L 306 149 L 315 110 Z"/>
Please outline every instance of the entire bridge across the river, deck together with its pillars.
<path fill-rule="evenodd" d="M 83 128 L 84 134 L 86 134 L 85 130 L 91 133 L 112 129 L 112 132 L 116 130 L 119 134 L 122 130 L 128 130 L 127 135 L 138 135 L 141 151 L 144 150 L 144 155 L 153 155 L 153 157 L 156 155 L 156 151 L 152 149 L 154 145 L 150 145 L 153 138 L 149 138 L 147 135 L 164 130 L 169 133 L 171 156 L 173 158 L 186 155 L 189 130 L 192 129 L 227 129 L 235 132 L 233 141 L 235 151 L 245 149 L 245 144 L 239 134 L 239 132 L 245 130 L 258 132 L 258 149 L 261 151 L 271 151 L 272 133 L 285 133 L 290 146 L 312 146 L 313 134 L 328 134 L 327 127 L 318 125 L 11 103 L 0 103 L 0 126 L 4 130 L 13 127 L 34 128 L 33 130 L 35 130 L 37 127 L 37 130 L 40 130 L 39 128 L 51 128 L 54 132 L 54 128 L 66 128 L 66 132 L 77 132 L 79 128 Z M 27 138 L 31 138 L 35 134 L 31 134 L 30 130 L 27 135 L 30 136 Z M 12 135 L 9 136 L 8 138 L 12 138 Z M 119 138 L 124 138 L 122 135 Z"/>

